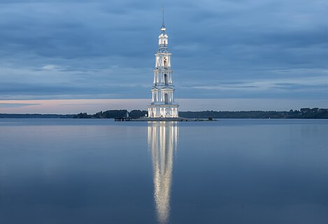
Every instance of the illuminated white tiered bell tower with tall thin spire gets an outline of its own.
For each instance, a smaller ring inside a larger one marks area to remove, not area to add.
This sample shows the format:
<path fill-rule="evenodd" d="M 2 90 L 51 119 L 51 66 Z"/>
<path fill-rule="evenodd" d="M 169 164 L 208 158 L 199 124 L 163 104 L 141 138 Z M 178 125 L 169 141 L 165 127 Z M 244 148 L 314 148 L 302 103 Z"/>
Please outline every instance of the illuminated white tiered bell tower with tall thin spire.
<path fill-rule="evenodd" d="M 174 102 L 174 85 L 171 69 L 171 52 L 168 48 L 169 36 L 163 24 L 159 34 L 156 65 L 154 70 L 154 83 L 152 84 L 152 102 L 148 106 L 149 118 L 178 118 L 178 103 Z"/>

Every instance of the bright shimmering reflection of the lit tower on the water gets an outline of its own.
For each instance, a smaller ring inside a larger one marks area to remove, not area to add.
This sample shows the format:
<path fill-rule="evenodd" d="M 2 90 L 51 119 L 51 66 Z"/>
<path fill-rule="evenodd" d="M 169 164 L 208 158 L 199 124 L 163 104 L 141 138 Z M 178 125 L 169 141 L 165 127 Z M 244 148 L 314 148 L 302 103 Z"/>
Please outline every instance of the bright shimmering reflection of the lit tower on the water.
<path fill-rule="evenodd" d="M 173 171 L 173 153 L 178 142 L 176 122 L 148 123 L 148 147 L 152 153 L 154 199 L 159 223 L 168 223 Z"/>

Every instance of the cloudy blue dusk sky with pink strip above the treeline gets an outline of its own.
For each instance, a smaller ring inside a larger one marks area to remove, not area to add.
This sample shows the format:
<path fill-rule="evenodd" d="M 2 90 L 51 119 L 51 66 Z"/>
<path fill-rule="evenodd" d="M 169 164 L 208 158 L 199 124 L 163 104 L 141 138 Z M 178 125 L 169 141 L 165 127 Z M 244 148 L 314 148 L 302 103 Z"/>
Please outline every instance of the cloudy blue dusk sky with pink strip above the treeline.
<path fill-rule="evenodd" d="M 0 0 L 0 113 L 147 109 L 163 2 L 180 110 L 328 108 L 326 0 Z"/>

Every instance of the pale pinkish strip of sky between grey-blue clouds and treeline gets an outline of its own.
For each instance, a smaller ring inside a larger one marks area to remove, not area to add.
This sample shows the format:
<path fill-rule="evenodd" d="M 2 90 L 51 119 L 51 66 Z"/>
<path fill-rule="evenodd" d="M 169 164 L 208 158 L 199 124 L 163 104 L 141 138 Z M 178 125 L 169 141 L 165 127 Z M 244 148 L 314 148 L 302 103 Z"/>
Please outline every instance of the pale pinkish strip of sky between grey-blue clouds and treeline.
<path fill-rule="evenodd" d="M 327 100 L 292 99 L 176 99 L 180 111 L 289 111 L 327 108 Z M 96 113 L 110 109 L 147 110 L 150 99 L 52 99 L 0 101 L 0 113 Z M 277 106 L 278 105 L 278 106 Z"/>

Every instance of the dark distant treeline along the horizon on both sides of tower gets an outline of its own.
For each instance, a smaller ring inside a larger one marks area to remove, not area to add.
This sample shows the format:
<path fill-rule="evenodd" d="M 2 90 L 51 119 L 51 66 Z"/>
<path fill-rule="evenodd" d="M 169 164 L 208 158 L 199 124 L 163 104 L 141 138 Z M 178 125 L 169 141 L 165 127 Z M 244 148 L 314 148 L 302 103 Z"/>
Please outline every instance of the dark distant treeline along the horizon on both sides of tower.
<path fill-rule="evenodd" d="M 94 114 L 78 113 L 62 114 L 8 114 L 0 113 L 0 118 L 141 118 L 148 111 L 140 110 L 109 110 Z M 290 111 L 187 111 L 179 112 L 182 118 L 298 118 L 298 119 L 328 119 L 328 109 L 303 108 Z"/>

